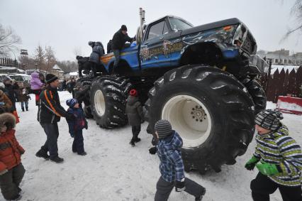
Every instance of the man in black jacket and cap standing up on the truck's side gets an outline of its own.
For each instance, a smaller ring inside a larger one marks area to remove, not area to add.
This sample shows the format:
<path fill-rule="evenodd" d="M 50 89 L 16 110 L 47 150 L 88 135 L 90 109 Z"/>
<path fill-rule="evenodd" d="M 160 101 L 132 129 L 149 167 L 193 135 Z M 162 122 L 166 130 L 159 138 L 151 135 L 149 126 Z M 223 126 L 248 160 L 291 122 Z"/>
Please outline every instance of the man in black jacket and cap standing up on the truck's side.
<path fill-rule="evenodd" d="M 120 62 L 121 58 L 121 50 L 123 48 L 128 48 L 130 45 L 125 45 L 126 42 L 131 43 L 133 38 L 130 38 L 127 34 L 127 27 L 125 25 L 121 26 L 121 29 L 118 30 L 113 38 L 112 38 L 112 50 L 114 53 L 114 56 L 116 57 L 116 60 L 113 64 L 113 74 L 115 73 L 114 70 L 116 70 L 116 67 L 118 66 L 118 63 Z"/>

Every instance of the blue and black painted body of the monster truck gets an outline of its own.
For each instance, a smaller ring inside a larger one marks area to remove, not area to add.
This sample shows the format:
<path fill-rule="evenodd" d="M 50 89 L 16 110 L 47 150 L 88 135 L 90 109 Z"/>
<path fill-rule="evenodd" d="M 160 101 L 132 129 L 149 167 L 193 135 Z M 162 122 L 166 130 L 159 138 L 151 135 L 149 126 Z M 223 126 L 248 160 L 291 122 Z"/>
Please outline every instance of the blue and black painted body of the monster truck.
<path fill-rule="evenodd" d="M 142 32 L 138 31 L 130 48 L 121 51 L 119 75 L 156 76 L 174 67 L 204 64 L 240 76 L 246 74 L 250 56 L 257 51 L 252 33 L 237 18 L 193 26 L 177 16 L 164 16 L 144 26 Z M 110 74 L 113 53 L 100 60 Z"/>

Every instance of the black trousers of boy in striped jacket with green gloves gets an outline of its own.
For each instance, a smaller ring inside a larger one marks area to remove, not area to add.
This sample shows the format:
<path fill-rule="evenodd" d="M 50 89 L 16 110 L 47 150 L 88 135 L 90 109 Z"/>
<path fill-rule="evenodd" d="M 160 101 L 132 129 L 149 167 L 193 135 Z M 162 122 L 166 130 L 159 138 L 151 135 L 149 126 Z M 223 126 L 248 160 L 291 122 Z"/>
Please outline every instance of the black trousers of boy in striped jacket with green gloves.
<path fill-rule="evenodd" d="M 279 188 L 283 201 L 301 201 L 301 186 L 289 187 L 279 185 L 267 176 L 258 173 L 255 180 L 251 182 L 252 199 L 254 201 L 269 201 L 269 195 Z"/>

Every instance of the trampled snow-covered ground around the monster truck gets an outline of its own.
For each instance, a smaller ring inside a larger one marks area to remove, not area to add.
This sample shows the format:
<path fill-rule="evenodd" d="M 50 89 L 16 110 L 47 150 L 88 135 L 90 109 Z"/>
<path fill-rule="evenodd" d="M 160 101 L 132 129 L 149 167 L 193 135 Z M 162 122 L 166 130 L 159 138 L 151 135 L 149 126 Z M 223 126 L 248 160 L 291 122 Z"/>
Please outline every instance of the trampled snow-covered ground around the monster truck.
<path fill-rule="evenodd" d="M 62 105 L 70 98 L 68 92 L 60 92 Z M 268 102 L 268 108 L 275 105 Z M 122 129 L 105 130 L 89 120 L 89 129 L 84 130 L 84 147 L 87 156 L 72 153 L 72 138 L 68 134 L 65 119 L 59 124 L 59 154 L 65 159 L 62 164 L 35 157 L 35 152 L 45 142 L 45 134 L 38 121 L 34 98 L 30 101 L 29 112 L 21 112 L 16 136 L 26 149 L 22 156 L 26 175 L 21 183 L 22 200 L 154 200 L 155 185 L 160 177 L 159 160 L 148 152 L 151 136 L 142 125 L 142 141 L 134 148 L 129 145 L 130 126 Z M 302 143 L 302 116 L 284 114 L 291 136 Z M 186 173 L 186 176 L 207 189 L 204 201 L 251 201 L 250 181 L 257 171 L 245 170 L 255 148 L 252 142 L 244 156 L 237 158 L 235 165 L 224 165 L 221 173 L 208 172 L 206 175 Z M 0 200 L 3 197 L 0 195 Z M 186 192 L 172 192 L 169 200 L 194 200 Z M 272 195 L 273 201 L 281 200 L 279 192 Z"/>

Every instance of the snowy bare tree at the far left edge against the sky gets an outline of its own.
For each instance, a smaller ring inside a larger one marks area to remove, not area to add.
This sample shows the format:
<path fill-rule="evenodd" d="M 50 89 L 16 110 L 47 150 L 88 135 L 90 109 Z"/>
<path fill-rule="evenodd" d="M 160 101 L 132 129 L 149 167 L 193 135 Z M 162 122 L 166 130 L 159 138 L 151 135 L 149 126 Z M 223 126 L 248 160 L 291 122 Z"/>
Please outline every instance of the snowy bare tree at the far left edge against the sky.
<path fill-rule="evenodd" d="M 0 55 L 7 57 L 16 50 L 16 44 L 21 43 L 21 38 L 16 35 L 11 27 L 4 27 L 0 23 Z"/>

